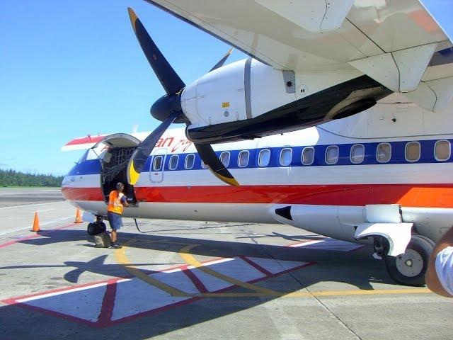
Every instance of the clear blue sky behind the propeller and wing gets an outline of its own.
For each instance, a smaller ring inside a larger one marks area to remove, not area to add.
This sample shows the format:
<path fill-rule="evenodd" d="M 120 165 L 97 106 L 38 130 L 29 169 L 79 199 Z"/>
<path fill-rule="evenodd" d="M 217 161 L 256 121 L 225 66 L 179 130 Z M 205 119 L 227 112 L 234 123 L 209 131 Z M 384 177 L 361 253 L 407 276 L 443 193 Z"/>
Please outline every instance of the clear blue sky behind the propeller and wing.
<path fill-rule="evenodd" d="M 423 4 L 453 37 L 453 0 Z M 230 48 L 142 0 L 0 0 L 0 169 L 62 175 L 81 156 L 60 150 L 69 140 L 159 125 L 149 108 L 164 90 L 128 6 L 185 84 Z"/>

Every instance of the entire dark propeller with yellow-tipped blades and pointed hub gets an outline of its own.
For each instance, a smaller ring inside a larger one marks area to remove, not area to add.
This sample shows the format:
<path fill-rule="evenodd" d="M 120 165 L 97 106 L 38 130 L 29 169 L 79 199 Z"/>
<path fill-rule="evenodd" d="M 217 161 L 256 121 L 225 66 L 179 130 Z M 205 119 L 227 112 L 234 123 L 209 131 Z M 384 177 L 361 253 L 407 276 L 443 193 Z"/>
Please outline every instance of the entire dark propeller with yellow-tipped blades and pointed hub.
<path fill-rule="evenodd" d="M 154 41 L 149 36 L 147 30 L 144 28 L 142 22 L 137 18 L 132 8 L 127 8 L 129 11 L 130 22 L 134 29 L 135 36 L 139 40 L 139 44 L 142 47 L 145 57 L 151 65 L 154 73 L 164 87 L 166 95 L 159 98 L 151 106 L 151 115 L 162 121 L 156 130 L 151 132 L 135 149 L 132 154 L 131 160 L 127 166 L 127 182 L 134 185 L 137 183 L 140 173 L 144 167 L 147 158 L 151 154 L 154 146 L 158 142 L 161 135 L 164 134 L 165 130 L 171 123 L 186 123 L 188 124 L 188 118 L 185 117 L 183 110 L 181 109 L 180 94 L 185 88 L 184 82 L 180 79 L 178 74 L 168 61 L 162 55 L 159 48 L 156 46 Z M 210 69 L 210 72 L 214 69 L 221 67 L 225 60 L 231 54 L 229 50 L 224 57 L 222 57 L 217 64 Z M 239 186 L 239 183 L 230 174 L 228 169 L 225 168 L 224 164 L 220 162 L 219 157 L 215 154 L 212 146 L 209 144 L 195 143 L 195 148 L 203 162 L 207 165 L 208 169 L 212 171 L 218 179 L 224 181 L 231 186 Z"/>

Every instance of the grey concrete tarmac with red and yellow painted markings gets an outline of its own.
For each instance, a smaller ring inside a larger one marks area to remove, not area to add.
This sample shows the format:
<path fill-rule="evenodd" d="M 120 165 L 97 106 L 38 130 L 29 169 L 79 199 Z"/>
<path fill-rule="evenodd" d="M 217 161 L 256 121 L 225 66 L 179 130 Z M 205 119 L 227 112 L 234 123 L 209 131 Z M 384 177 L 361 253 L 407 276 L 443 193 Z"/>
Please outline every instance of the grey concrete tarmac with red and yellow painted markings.
<path fill-rule="evenodd" d="M 367 246 L 124 219 L 123 248 L 98 249 L 75 212 L 58 188 L 0 189 L 0 339 L 452 339 L 453 299 L 397 285 Z"/>

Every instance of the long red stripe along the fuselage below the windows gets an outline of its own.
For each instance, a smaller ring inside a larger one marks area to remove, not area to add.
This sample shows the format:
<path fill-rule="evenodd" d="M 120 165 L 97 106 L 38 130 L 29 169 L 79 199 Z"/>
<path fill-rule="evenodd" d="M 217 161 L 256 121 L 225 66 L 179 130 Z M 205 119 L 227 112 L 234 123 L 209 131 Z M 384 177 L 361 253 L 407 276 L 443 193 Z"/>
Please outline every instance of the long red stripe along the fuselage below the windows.
<path fill-rule="evenodd" d="M 103 200 L 100 188 L 62 188 L 68 200 Z M 139 201 L 156 203 L 401 204 L 453 208 L 453 184 L 136 187 Z"/>

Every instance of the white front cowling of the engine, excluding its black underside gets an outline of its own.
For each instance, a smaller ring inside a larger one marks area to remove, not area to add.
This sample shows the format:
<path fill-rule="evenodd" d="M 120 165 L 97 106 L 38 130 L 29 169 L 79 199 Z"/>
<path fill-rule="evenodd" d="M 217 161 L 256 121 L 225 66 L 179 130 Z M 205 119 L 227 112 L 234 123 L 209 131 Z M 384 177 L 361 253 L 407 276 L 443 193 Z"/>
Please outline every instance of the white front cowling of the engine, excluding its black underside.
<path fill-rule="evenodd" d="M 188 131 L 257 118 L 296 100 L 294 72 L 249 58 L 205 74 L 181 94 Z M 259 98 L 259 100 L 257 100 Z"/>

